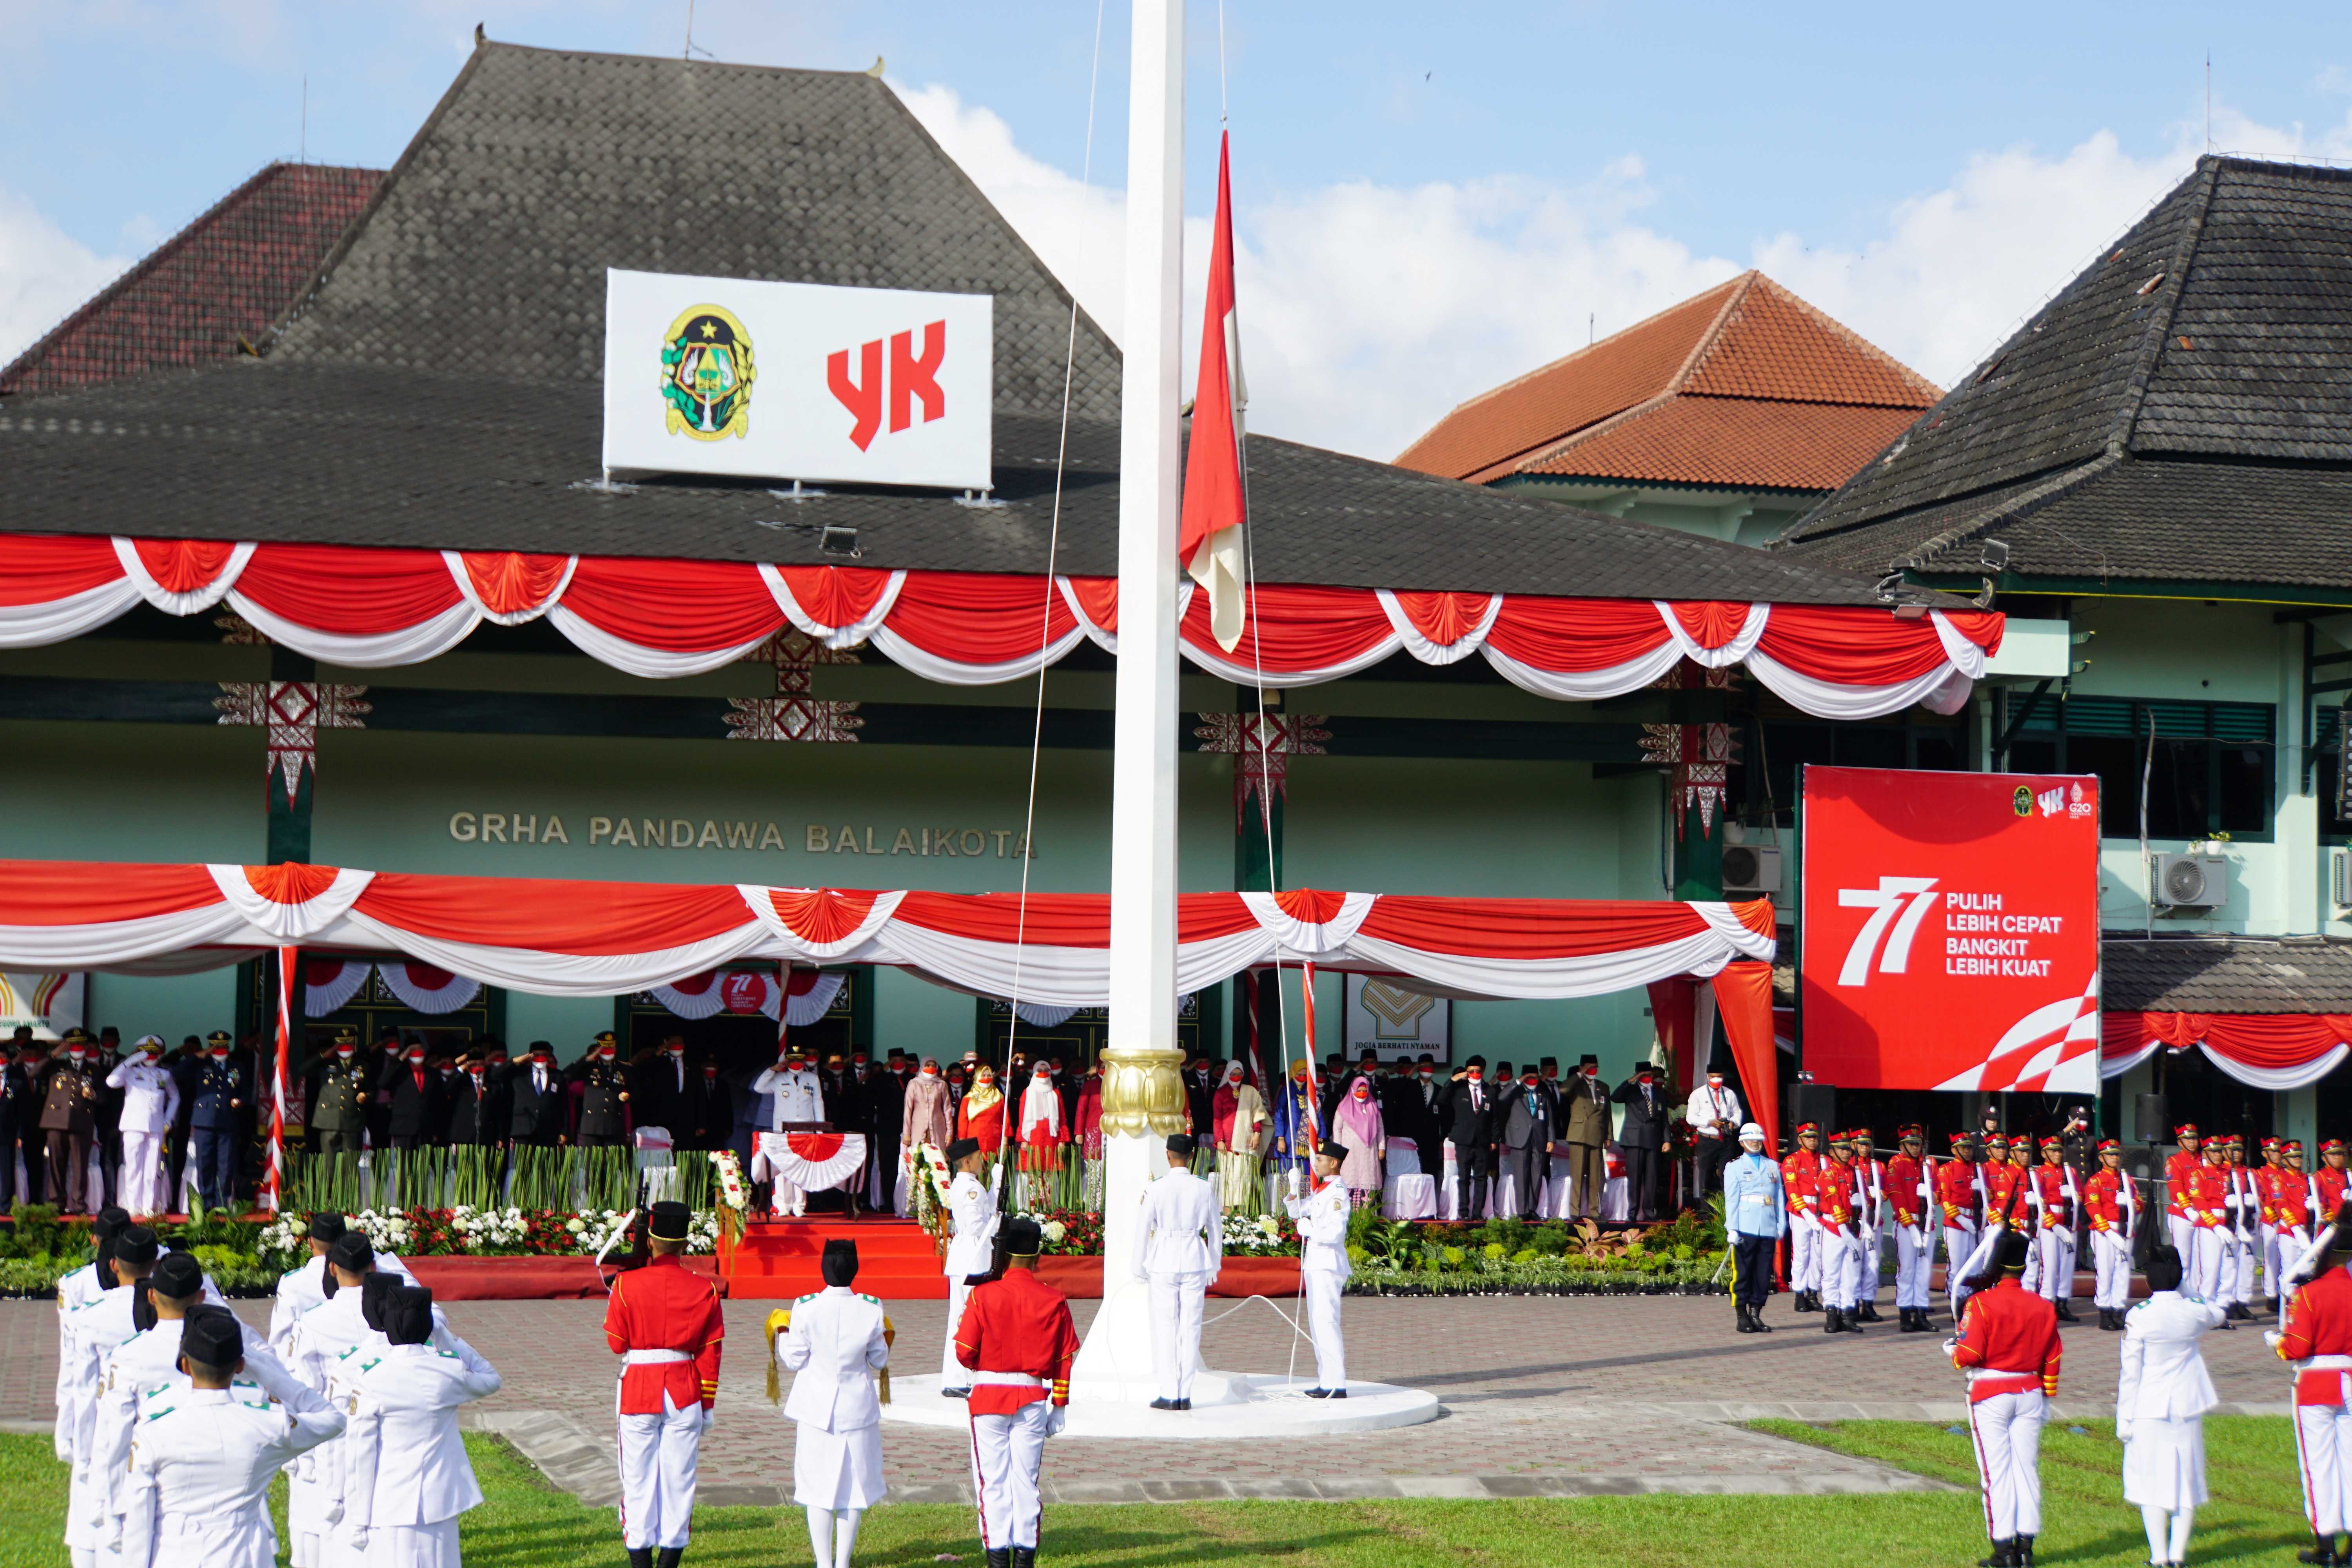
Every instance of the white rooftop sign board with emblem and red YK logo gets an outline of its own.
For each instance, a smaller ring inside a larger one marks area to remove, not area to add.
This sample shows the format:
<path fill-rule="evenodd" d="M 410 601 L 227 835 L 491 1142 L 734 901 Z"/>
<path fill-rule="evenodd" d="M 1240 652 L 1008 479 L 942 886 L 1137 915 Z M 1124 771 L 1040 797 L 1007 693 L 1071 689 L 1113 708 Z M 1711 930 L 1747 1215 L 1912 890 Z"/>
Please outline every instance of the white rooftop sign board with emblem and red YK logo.
<path fill-rule="evenodd" d="M 988 489 L 995 299 L 604 273 L 604 470 Z"/>

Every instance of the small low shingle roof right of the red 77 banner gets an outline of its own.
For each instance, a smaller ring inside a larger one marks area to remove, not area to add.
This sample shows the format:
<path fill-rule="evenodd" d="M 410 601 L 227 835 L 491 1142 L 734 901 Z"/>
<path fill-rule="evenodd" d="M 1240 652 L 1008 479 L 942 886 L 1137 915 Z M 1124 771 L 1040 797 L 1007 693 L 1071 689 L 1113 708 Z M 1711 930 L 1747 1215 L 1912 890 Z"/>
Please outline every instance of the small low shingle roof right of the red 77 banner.
<path fill-rule="evenodd" d="M 2352 1013 L 2352 943 L 2110 936 L 2100 959 L 2110 1013 Z"/>

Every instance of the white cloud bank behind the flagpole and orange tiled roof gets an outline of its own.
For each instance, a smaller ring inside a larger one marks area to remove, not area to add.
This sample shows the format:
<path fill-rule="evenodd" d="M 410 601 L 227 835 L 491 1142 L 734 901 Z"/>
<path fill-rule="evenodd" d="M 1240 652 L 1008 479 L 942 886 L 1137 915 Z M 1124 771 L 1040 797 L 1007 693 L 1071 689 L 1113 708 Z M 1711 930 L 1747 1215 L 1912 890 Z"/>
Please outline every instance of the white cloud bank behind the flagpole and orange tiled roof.
<path fill-rule="evenodd" d="M 915 115 L 997 202 L 1103 327 L 1120 334 L 1124 127 L 1096 127 L 1096 181 L 1023 153 L 988 108 L 950 87 L 901 87 Z M 2305 132 L 2225 106 L 2213 143 L 2265 158 L 2347 158 L 2352 115 Z M 1656 226 L 1646 169 L 1590 181 L 1484 176 L 1425 186 L 1352 181 L 1237 214 L 1249 423 L 1268 435 L 1395 456 L 1446 409 L 1759 266 L 1865 339 L 1950 386 L 2091 254 L 2187 174 L 2204 129 L 2133 158 L 2112 132 L 2058 155 L 1969 158 L 1947 183 L 1896 202 L 1856 249 L 1757 237 L 1745 259 L 1703 256 Z M 1200 331 L 1207 221 L 1185 223 L 1185 357 Z M 1190 386 L 1190 369 L 1185 371 Z"/>

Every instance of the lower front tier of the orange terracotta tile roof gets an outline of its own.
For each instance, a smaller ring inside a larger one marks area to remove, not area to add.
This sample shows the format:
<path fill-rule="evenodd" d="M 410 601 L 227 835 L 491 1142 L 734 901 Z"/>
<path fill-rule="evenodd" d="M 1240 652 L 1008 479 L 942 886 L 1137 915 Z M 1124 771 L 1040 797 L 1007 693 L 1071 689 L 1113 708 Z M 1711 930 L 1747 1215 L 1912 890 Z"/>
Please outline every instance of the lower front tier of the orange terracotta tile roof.
<path fill-rule="evenodd" d="M 1665 397 L 1512 473 L 1830 491 L 1915 416 L 1915 409 L 1842 402 Z"/>

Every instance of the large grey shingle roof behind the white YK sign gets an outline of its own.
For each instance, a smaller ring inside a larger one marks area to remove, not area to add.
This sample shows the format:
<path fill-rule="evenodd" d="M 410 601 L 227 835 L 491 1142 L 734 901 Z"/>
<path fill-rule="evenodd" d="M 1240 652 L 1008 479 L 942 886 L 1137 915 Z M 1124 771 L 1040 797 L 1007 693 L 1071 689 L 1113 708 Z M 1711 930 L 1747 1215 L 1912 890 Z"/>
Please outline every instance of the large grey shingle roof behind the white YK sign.
<path fill-rule="evenodd" d="M 604 268 L 995 294 L 997 498 L 583 489 Z M 0 529 L 818 562 L 1047 564 L 1070 296 L 863 73 L 485 45 L 261 360 L 0 407 Z M 1080 317 L 1058 567 L 1115 571 L 1112 343 Z M 1867 604 L 1740 545 L 1251 440 L 1263 581 Z M 760 524 L 802 527 L 760 527 Z"/>

